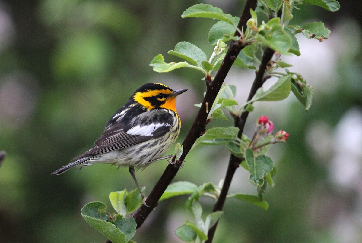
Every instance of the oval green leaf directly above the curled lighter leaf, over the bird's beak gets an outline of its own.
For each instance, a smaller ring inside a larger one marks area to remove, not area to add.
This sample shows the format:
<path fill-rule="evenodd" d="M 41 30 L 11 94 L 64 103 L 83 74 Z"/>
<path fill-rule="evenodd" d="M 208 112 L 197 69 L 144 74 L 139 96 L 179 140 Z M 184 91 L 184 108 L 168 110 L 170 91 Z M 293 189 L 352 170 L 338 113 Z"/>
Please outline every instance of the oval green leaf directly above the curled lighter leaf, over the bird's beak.
<path fill-rule="evenodd" d="M 190 42 L 182 41 L 178 42 L 174 50 L 168 51 L 168 54 L 181 57 L 186 61 L 189 61 L 191 64 L 201 67 L 201 62 L 206 61 L 207 57 L 205 52 L 200 48 L 191 44 Z M 212 70 L 212 69 L 211 69 Z"/>

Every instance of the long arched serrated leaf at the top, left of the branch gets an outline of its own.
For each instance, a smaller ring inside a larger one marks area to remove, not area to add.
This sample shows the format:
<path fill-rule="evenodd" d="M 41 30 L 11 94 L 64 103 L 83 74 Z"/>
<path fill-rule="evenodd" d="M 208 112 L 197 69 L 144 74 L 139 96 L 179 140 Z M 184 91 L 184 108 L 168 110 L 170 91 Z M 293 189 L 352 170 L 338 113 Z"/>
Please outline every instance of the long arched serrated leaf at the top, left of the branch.
<path fill-rule="evenodd" d="M 216 20 L 225 21 L 231 25 L 235 25 L 231 14 L 223 13 L 223 10 L 216 8 L 211 4 L 195 4 L 185 10 L 181 15 L 182 18 L 197 17 L 197 18 L 212 18 Z"/>

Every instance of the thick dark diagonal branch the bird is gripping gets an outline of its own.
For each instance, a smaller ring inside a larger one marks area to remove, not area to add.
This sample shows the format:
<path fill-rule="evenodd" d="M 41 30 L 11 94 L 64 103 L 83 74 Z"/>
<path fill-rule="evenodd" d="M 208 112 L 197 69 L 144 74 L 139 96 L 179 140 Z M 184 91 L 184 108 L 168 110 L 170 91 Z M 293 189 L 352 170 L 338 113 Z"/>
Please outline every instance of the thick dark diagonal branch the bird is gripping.
<path fill-rule="evenodd" d="M 243 13 L 241 14 L 240 21 L 238 24 L 238 28 L 241 30 L 245 30 L 247 27 L 247 21 L 251 18 L 250 9 L 255 9 L 257 6 L 257 0 L 247 0 L 243 9 Z M 237 31 L 235 32 L 235 36 L 239 35 Z M 168 187 L 168 185 L 172 182 L 173 178 L 176 176 L 178 169 L 180 169 L 181 162 L 183 161 L 190 151 L 192 145 L 197 140 L 199 136 L 205 132 L 206 127 L 206 119 L 208 115 L 209 107 L 215 101 L 216 95 L 219 93 L 219 90 L 225 80 L 226 75 L 228 74 L 232 64 L 234 63 L 239 52 L 244 48 L 242 42 L 240 41 L 232 41 L 230 47 L 224 57 L 223 63 L 221 64 L 220 69 L 216 73 L 216 76 L 213 81 L 211 81 L 210 77 L 206 77 L 207 89 L 206 94 L 201 104 L 201 107 L 198 111 L 198 114 L 192 124 L 190 131 L 186 135 L 184 142 L 182 145 L 184 146 L 183 153 L 178 161 L 175 162 L 175 165 L 169 164 L 163 174 L 161 175 L 159 181 L 156 183 L 155 187 L 153 187 L 150 195 L 147 197 L 146 204 L 148 206 L 142 205 L 138 208 L 131 216 L 135 219 L 137 223 L 137 228 L 139 228 L 142 223 L 146 220 L 148 215 L 152 212 L 153 208 L 157 206 L 157 202 L 160 197 Z"/>

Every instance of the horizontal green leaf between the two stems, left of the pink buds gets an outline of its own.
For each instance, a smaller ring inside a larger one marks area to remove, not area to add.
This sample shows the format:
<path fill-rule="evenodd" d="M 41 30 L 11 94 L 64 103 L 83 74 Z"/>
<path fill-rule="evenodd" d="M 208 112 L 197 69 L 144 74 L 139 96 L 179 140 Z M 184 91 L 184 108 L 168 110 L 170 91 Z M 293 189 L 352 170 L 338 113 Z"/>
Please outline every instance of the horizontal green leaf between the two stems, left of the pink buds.
<path fill-rule="evenodd" d="M 205 134 L 199 137 L 195 146 L 199 144 L 203 145 L 220 145 L 233 142 L 237 139 L 237 133 L 239 128 L 237 127 L 213 127 L 206 130 Z"/>

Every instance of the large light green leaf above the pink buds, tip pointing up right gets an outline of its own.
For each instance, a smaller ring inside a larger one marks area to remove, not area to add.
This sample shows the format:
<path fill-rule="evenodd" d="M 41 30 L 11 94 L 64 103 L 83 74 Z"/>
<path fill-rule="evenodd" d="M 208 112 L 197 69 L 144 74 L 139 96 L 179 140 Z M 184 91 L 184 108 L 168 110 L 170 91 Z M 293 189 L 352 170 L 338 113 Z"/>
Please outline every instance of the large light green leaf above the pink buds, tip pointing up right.
<path fill-rule="evenodd" d="M 281 101 L 287 98 L 290 93 L 290 77 L 291 75 L 289 74 L 279 78 L 278 81 L 267 91 L 264 91 L 262 87 L 259 88 L 256 91 L 253 99 L 247 103 L 252 103 L 255 101 Z M 245 105 L 247 103 L 245 103 Z"/>

